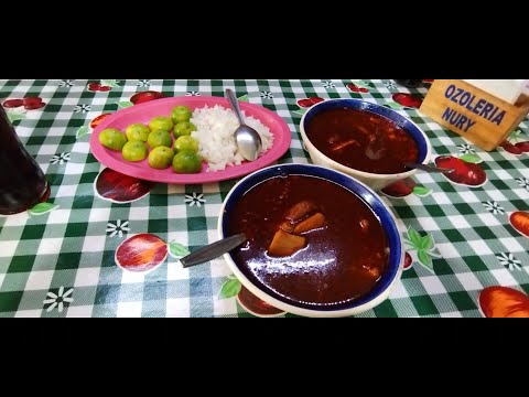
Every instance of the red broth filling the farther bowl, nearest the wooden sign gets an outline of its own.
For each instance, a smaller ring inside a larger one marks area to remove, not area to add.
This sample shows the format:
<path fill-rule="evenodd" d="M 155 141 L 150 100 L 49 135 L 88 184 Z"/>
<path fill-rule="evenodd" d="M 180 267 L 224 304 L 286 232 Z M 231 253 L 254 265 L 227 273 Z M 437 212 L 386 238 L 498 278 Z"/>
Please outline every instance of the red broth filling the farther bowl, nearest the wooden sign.
<path fill-rule="evenodd" d="M 406 130 L 390 119 L 367 110 L 323 110 L 307 122 L 306 136 L 326 157 L 370 173 L 406 172 L 409 170 L 404 162 L 419 158 L 417 142 Z M 368 147 L 375 155 L 368 155 Z"/>

